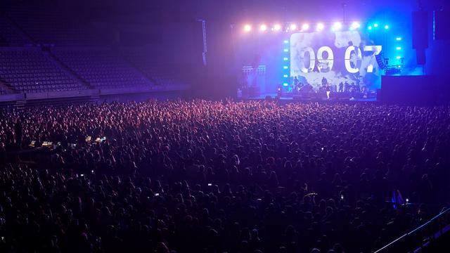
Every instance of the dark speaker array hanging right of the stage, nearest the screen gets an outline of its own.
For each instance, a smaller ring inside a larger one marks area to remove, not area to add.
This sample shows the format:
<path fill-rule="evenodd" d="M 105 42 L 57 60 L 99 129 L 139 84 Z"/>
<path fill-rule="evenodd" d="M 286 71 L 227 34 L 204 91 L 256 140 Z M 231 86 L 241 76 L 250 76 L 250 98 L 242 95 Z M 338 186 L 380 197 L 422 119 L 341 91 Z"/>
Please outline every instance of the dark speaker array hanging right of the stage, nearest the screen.
<path fill-rule="evenodd" d="M 413 11 L 413 48 L 428 48 L 428 13 Z"/>

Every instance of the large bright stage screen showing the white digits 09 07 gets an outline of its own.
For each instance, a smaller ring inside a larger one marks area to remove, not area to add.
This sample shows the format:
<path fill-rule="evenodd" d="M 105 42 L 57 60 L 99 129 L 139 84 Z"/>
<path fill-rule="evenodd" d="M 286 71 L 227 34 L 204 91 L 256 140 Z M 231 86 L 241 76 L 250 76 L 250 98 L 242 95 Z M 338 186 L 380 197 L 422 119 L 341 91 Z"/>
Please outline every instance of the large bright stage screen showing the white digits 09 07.
<path fill-rule="evenodd" d="M 325 77 L 336 87 L 347 82 L 375 91 L 381 86 L 375 56 L 382 49 L 357 30 L 295 33 L 290 37 L 290 77 L 314 89 L 319 89 Z"/>

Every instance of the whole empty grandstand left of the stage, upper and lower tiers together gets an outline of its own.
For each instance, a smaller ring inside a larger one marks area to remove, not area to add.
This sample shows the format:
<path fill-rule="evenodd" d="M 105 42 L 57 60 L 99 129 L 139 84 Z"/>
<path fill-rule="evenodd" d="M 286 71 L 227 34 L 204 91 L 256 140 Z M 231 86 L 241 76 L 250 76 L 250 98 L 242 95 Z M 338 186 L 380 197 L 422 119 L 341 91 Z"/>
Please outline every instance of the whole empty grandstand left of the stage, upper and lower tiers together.
<path fill-rule="evenodd" d="M 0 94 L 134 87 L 142 91 L 176 84 L 174 68 L 149 57 L 155 52 L 111 51 L 89 21 L 65 15 L 56 6 L 18 4 L 5 13 L 0 14 Z M 39 46 L 51 48 L 51 53 Z"/>

